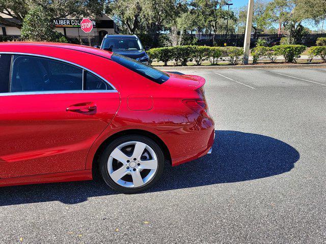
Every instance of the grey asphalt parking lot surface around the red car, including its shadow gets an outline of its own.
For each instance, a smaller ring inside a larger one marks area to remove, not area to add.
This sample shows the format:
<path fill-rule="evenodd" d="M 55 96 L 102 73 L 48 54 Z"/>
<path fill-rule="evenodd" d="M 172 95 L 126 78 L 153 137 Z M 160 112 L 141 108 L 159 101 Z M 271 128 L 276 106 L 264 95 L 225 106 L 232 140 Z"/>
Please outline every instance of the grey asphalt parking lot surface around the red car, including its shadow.
<path fill-rule="evenodd" d="M 326 243 L 326 69 L 179 72 L 207 80 L 211 155 L 137 195 L 0 188 L 0 243 Z"/>

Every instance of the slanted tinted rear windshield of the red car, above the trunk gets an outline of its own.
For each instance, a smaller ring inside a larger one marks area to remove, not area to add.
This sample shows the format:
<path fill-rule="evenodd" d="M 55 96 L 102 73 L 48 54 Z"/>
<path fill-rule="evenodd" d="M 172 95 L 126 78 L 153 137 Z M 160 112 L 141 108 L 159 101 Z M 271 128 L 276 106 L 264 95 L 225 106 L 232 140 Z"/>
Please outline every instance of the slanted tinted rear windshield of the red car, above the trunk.
<path fill-rule="evenodd" d="M 122 56 L 119 54 L 113 54 L 111 56 L 112 60 L 133 72 L 136 72 L 158 84 L 166 82 L 170 76 L 160 70 L 154 69 L 151 66 L 140 63 L 132 58 Z"/>

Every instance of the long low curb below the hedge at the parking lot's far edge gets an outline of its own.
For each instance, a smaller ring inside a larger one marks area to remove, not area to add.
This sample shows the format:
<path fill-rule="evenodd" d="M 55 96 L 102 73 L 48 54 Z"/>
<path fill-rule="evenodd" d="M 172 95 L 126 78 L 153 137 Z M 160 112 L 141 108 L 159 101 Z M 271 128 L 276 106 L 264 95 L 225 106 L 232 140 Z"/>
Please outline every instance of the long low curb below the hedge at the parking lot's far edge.
<path fill-rule="evenodd" d="M 284 68 L 326 68 L 326 64 L 288 64 L 288 65 L 221 65 L 221 66 L 153 66 L 164 71 L 173 70 L 220 70 L 220 69 L 284 69 Z"/>

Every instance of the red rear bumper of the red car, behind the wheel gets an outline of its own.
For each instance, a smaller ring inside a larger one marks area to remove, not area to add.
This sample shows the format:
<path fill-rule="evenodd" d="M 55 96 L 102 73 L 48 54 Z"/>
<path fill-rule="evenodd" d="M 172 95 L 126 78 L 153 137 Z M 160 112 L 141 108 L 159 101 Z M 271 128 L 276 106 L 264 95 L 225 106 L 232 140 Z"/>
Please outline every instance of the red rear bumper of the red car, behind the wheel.
<path fill-rule="evenodd" d="M 169 148 L 172 166 L 198 159 L 212 150 L 215 131 L 211 118 L 198 116 L 192 125 L 160 135 Z"/>

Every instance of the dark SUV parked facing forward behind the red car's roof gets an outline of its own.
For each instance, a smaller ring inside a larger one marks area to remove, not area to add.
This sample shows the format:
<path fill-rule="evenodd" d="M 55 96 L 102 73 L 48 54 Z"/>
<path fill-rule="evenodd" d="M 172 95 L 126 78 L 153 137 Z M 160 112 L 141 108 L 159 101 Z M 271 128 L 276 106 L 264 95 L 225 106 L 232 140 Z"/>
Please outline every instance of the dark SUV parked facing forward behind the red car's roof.
<path fill-rule="evenodd" d="M 106 35 L 103 38 L 101 49 L 112 49 L 114 53 L 121 54 L 139 62 L 149 65 L 149 56 L 146 53 L 149 47 L 143 47 L 136 35 Z"/>

